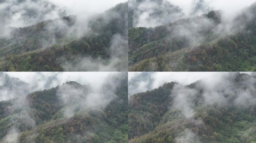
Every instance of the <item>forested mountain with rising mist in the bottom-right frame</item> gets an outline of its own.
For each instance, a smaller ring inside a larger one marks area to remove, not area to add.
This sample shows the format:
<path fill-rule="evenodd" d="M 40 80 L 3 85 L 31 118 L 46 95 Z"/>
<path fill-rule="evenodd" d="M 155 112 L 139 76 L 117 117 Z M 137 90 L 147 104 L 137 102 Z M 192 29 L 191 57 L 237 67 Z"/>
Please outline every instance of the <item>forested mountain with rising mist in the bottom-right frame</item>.
<path fill-rule="evenodd" d="M 256 77 L 165 83 L 129 98 L 129 143 L 256 142 Z"/>

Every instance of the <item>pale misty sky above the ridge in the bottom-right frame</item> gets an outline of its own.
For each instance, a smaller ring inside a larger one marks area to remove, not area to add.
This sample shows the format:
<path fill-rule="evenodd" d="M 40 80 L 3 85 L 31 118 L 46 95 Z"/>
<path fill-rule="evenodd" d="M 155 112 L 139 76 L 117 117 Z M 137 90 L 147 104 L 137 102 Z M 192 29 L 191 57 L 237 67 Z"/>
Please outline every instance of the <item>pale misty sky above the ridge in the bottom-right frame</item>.
<path fill-rule="evenodd" d="M 228 72 L 148 72 L 147 78 L 141 78 L 142 72 L 129 72 L 128 95 L 131 96 L 135 93 L 159 88 L 159 86 L 162 86 L 164 83 L 178 82 L 182 85 L 190 85 L 200 79 L 213 80 L 227 73 Z M 252 72 L 243 73 L 252 74 Z"/>

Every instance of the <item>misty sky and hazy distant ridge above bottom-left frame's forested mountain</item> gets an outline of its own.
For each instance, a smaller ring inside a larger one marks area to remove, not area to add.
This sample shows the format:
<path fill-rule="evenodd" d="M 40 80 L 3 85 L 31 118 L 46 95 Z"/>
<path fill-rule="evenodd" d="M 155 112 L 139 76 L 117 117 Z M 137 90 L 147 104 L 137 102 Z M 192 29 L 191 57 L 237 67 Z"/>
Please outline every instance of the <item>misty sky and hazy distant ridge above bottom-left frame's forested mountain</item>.
<path fill-rule="evenodd" d="M 18 78 L 27 84 L 9 85 L 1 88 L 0 101 L 16 98 L 17 96 L 26 96 L 34 91 L 55 88 L 63 83 L 74 81 L 81 85 L 89 86 L 92 91 L 101 98 L 100 95 L 106 92 L 104 85 L 109 84 L 113 88 L 108 88 L 108 93 L 115 95 L 115 88 L 119 85 L 119 80 L 127 78 L 127 72 L 4 72 L 3 77 L 7 74 L 10 77 Z M 0 77 L 1 79 L 1 77 Z M 11 80 L 15 81 L 15 80 Z M 117 82 L 118 81 L 118 82 Z M 0 81 L 0 85 L 4 85 L 6 81 Z M 9 81 L 8 81 L 9 82 Z M 10 89 L 13 88 L 13 89 Z M 73 90 L 73 88 L 71 88 Z M 71 90 L 70 89 L 70 90 Z M 17 94 L 18 93 L 18 94 Z M 74 94 L 70 94 L 74 96 Z M 106 95 L 106 94 L 104 94 Z"/>

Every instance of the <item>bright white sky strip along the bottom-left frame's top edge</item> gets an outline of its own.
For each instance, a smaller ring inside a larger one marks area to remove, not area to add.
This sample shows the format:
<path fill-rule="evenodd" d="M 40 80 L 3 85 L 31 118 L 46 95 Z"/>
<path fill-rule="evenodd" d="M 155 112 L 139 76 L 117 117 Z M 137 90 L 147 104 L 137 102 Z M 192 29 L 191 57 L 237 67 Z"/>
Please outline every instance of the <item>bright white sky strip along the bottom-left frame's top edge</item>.
<path fill-rule="evenodd" d="M 50 84 L 47 87 L 52 88 L 69 81 L 82 85 L 89 83 L 100 86 L 110 73 L 115 72 L 6 72 L 10 77 L 18 78 L 31 85 L 38 85 L 38 90 L 45 89 L 46 84 Z"/>

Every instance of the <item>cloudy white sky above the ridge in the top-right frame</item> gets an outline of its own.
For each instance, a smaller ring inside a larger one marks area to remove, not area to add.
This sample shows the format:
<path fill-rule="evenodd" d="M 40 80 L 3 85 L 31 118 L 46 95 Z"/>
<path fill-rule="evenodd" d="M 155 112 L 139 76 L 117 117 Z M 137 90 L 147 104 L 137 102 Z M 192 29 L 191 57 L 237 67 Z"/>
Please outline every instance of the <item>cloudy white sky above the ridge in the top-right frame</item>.
<path fill-rule="evenodd" d="M 133 24 L 135 27 L 155 27 L 179 19 L 200 16 L 211 10 L 221 10 L 223 19 L 230 21 L 254 2 L 255 0 L 186 0 L 186 2 L 183 0 L 163 0 L 160 4 L 145 0 L 137 5 L 137 10 L 134 12 L 136 20 Z M 135 3 L 135 0 L 131 0 L 131 7 Z M 179 12 L 176 11 L 176 14 L 172 13 L 174 15 L 170 15 L 168 12 L 172 8 L 166 6 L 167 3 L 178 6 L 180 8 Z M 155 13 L 159 12 L 162 12 L 162 14 L 156 16 Z"/>

